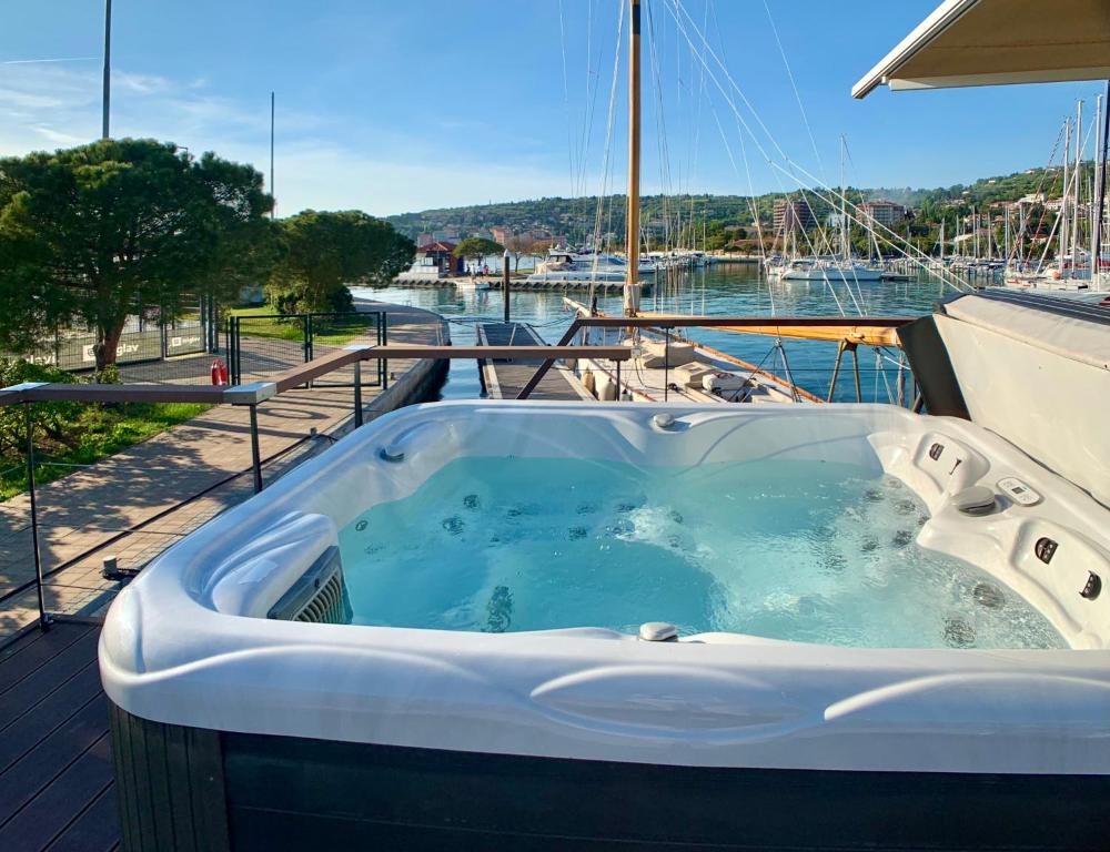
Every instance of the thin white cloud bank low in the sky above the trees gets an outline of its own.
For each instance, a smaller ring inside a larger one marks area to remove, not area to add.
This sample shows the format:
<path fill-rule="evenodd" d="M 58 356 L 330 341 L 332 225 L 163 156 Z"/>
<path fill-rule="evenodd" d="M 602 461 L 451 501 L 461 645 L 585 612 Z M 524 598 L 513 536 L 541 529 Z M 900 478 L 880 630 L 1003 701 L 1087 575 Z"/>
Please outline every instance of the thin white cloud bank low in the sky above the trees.
<path fill-rule="evenodd" d="M 259 109 L 214 95 L 196 79 L 119 71 L 112 132 L 215 151 L 269 175 L 269 98 Z M 279 110 L 276 197 L 280 215 L 305 207 L 387 215 L 490 199 L 566 193 L 566 176 L 543 160 L 482 161 L 377 130 L 353 136 L 334 116 Z M 294 130 L 295 129 L 295 130 Z M 0 155 L 91 142 L 100 135 L 100 75 L 34 65 L 0 72 Z M 356 138 L 357 146 L 336 142 Z"/>

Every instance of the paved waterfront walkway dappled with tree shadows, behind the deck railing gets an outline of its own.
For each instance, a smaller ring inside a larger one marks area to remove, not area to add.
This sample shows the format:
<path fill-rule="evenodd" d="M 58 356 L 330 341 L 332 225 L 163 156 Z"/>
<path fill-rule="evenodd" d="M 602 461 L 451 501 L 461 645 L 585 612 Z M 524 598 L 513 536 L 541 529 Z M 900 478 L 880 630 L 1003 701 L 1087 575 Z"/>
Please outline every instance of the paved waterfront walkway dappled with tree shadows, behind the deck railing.
<path fill-rule="evenodd" d="M 389 311 L 391 343 L 450 342 L 447 324 L 413 307 L 363 303 Z M 317 352 L 322 355 L 323 352 Z M 401 377 L 418 362 L 390 362 Z M 364 381 L 376 371 L 363 369 Z M 322 382 L 350 383 L 352 368 Z M 391 385 L 393 379 L 391 379 Z M 380 399 L 365 388 L 366 418 L 391 410 L 397 394 Z M 403 400 L 408 402 L 408 400 Z M 403 404 L 403 403 L 401 403 Z M 353 414 L 351 387 L 291 390 L 259 406 L 259 443 L 264 479 L 272 481 L 331 443 L 324 437 Z M 317 437 L 311 437 L 315 429 Z M 119 584 L 101 576 L 103 559 L 140 568 L 183 535 L 252 494 L 249 410 L 214 406 L 123 453 L 37 489 L 39 552 L 47 609 L 92 615 L 103 609 Z M 33 585 L 30 503 L 26 495 L 0 504 L 0 641 L 38 617 Z M 7 599 L 3 599 L 7 596 Z"/>

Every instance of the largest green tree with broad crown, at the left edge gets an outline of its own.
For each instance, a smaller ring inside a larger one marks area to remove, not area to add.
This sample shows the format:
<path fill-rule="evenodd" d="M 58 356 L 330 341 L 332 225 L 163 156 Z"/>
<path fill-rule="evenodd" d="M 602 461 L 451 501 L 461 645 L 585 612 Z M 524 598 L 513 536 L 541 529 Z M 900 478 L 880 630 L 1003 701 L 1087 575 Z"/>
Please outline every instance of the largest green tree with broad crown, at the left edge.
<path fill-rule="evenodd" d="M 0 160 L 0 346 L 83 323 L 103 371 L 138 305 L 172 317 L 264 275 L 270 206 L 252 166 L 154 140 Z"/>

